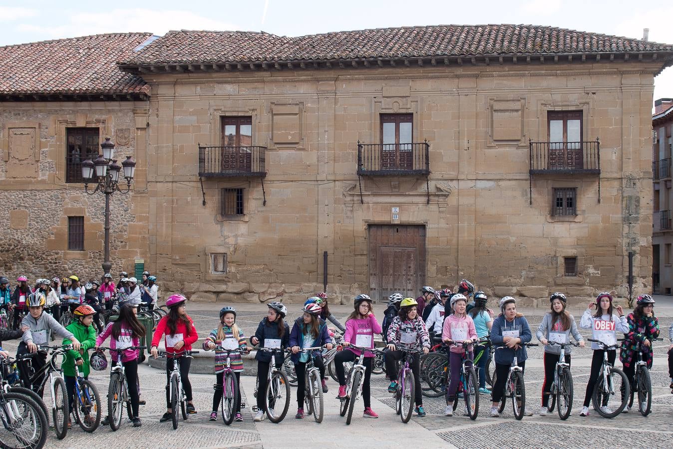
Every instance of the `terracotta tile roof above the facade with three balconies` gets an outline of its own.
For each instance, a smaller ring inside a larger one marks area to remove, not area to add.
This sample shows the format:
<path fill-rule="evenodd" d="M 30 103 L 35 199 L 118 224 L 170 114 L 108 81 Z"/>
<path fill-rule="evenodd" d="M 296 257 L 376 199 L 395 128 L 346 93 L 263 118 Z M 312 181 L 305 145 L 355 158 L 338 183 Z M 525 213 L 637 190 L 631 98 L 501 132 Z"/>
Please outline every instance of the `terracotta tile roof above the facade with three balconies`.
<path fill-rule="evenodd" d="M 264 32 L 172 31 L 122 65 L 351 60 L 499 54 L 670 52 L 673 46 L 548 26 L 380 28 L 296 38 Z"/>

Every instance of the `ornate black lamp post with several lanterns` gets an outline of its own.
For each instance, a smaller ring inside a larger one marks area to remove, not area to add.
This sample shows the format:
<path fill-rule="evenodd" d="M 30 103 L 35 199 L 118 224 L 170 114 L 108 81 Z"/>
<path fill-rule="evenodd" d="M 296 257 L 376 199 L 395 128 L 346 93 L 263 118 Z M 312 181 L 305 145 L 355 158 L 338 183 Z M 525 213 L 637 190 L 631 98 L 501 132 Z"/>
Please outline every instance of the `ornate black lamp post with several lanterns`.
<path fill-rule="evenodd" d="M 100 144 L 103 150 L 102 155 L 98 155 L 95 161 L 87 159 L 82 162 L 82 177 L 84 178 L 84 192 L 94 195 L 96 192 L 102 192 L 105 195 L 105 241 L 103 255 L 103 273 L 109 273 L 112 269 L 110 261 L 110 196 L 114 192 L 127 194 L 131 190 L 131 181 L 135 175 L 135 161 L 131 156 L 127 156 L 122 165 L 117 163 L 114 157 L 114 143 L 106 137 L 105 142 Z M 119 188 L 119 173 L 124 169 L 124 178 L 127 181 L 126 190 Z M 96 188 L 89 191 L 89 183 L 96 183 Z"/>

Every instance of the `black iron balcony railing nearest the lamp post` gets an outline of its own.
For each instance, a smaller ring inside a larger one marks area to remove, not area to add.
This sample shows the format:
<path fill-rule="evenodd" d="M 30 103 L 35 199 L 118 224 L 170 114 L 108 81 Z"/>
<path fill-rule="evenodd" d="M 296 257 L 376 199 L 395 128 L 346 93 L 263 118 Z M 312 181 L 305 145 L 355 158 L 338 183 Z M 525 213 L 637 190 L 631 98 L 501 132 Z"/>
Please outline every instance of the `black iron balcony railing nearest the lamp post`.
<path fill-rule="evenodd" d="M 199 145 L 199 176 L 264 177 L 267 147 L 202 147 Z"/>

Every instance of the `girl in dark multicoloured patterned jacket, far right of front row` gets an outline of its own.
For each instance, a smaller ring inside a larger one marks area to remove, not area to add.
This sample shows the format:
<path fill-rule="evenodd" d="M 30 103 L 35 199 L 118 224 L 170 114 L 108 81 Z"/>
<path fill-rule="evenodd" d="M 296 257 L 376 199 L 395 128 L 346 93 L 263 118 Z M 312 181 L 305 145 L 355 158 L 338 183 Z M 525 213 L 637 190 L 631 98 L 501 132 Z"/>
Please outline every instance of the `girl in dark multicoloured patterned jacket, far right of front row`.
<path fill-rule="evenodd" d="M 635 391 L 633 380 L 635 379 L 635 362 L 638 361 L 638 351 L 643 352 L 643 361 L 647 362 L 647 368 L 652 368 L 652 342 L 650 339 L 659 337 L 659 320 L 654 316 L 654 300 L 649 294 L 641 294 L 636 301 L 636 307 L 627 317 L 629 332 L 624 335 L 619 361 L 622 362 L 624 374 L 629 378 L 631 391 Z M 642 407 L 646 409 L 647 407 Z M 622 413 L 629 412 L 629 405 L 624 407 Z"/>

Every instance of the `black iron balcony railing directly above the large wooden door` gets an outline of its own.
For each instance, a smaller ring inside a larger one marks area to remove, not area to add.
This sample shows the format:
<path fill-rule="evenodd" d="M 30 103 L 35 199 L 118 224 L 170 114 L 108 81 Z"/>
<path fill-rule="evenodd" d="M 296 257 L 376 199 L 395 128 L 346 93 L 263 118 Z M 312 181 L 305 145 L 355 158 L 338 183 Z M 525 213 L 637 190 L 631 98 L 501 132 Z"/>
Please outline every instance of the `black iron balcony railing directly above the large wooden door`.
<path fill-rule="evenodd" d="M 357 142 L 358 175 L 427 175 L 430 173 L 430 144 Z"/>

